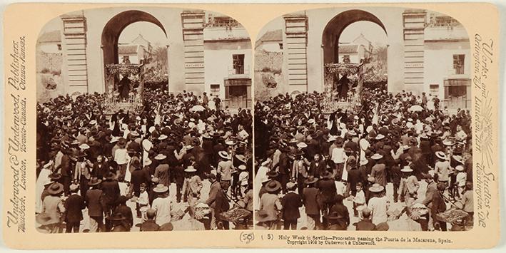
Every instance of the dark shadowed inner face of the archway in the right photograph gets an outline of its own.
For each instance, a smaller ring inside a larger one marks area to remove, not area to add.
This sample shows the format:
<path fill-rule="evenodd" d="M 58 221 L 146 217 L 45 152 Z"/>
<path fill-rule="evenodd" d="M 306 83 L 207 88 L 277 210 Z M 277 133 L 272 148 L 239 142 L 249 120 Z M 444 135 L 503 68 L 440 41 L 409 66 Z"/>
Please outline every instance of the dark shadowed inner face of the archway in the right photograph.
<path fill-rule="evenodd" d="M 341 33 L 350 26 L 358 21 L 370 21 L 375 24 L 378 24 L 385 34 L 388 36 L 387 29 L 385 29 L 385 25 L 380 19 L 374 14 L 371 14 L 368 11 L 362 10 L 349 10 L 343 11 L 340 14 L 336 15 L 331 19 L 325 29 L 323 29 L 322 36 L 322 49 L 323 49 L 323 65 L 325 63 L 338 63 L 339 59 L 339 38 Z M 335 76 L 325 73 L 325 67 L 323 71 L 323 91 L 328 92 L 329 87 L 333 87 L 335 82 Z"/>

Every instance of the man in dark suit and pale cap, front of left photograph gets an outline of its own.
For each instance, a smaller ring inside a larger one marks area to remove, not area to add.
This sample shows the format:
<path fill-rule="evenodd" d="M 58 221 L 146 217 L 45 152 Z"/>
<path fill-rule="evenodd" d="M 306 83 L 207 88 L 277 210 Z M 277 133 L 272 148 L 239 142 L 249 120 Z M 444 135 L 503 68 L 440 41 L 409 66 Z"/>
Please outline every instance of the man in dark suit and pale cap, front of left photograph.
<path fill-rule="evenodd" d="M 79 233 L 79 223 L 83 220 L 83 209 L 86 205 L 84 205 L 84 197 L 77 194 L 78 190 L 78 185 L 70 185 L 71 195 L 65 200 L 65 232 L 67 233 L 71 233 L 72 229 L 74 233 Z"/>

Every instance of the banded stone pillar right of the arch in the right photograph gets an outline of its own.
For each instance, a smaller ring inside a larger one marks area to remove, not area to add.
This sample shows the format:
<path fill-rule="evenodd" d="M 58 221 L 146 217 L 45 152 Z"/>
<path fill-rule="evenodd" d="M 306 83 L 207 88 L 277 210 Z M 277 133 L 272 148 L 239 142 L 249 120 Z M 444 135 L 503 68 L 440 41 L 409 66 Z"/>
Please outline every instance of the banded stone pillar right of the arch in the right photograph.
<path fill-rule="evenodd" d="M 425 10 L 403 12 L 404 88 L 421 95 L 423 91 Z"/>

